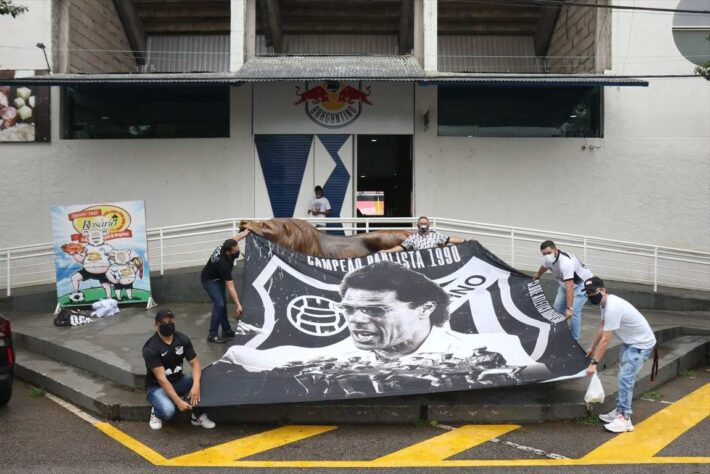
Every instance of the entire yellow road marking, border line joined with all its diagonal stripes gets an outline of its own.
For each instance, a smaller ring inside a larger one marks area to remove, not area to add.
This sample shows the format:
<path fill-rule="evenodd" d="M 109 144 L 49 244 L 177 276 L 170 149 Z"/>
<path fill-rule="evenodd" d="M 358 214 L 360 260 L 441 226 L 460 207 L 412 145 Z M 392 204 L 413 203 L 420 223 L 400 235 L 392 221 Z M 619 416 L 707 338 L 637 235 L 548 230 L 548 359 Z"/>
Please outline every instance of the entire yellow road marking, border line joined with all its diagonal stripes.
<path fill-rule="evenodd" d="M 251 468 L 382 468 L 382 467 L 552 467 L 624 464 L 710 464 L 710 456 L 654 457 L 687 430 L 710 416 L 710 384 L 664 408 L 580 459 L 446 460 L 519 425 L 465 425 L 435 438 L 372 461 L 239 461 L 247 456 L 336 429 L 335 426 L 286 426 L 166 459 L 108 423 L 95 426 L 107 436 L 157 466 L 224 466 Z"/>

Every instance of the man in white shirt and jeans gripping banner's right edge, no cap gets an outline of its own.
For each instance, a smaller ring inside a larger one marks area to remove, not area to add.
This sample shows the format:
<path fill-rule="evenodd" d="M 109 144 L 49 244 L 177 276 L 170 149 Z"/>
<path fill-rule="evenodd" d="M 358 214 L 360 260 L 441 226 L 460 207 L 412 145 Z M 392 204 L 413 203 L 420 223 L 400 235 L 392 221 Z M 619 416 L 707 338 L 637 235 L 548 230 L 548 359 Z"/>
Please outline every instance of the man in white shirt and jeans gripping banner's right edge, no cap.
<path fill-rule="evenodd" d="M 540 244 L 542 265 L 533 274 L 533 278 L 540 278 L 543 273 L 550 270 L 559 282 L 557 296 L 552 307 L 565 318 L 570 320 L 569 330 L 572 337 L 578 341 L 582 330 L 582 308 L 587 301 L 584 295 L 583 282 L 591 278 L 592 272 L 577 257 L 558 249 L 551 240 Z"/>

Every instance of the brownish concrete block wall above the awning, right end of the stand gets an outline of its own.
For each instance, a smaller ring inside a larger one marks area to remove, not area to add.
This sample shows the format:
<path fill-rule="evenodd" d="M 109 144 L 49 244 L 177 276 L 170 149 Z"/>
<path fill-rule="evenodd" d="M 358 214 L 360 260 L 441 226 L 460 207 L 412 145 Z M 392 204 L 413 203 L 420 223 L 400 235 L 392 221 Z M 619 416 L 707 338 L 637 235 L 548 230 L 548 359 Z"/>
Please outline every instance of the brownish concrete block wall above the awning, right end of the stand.
<path fill-rule="evenodd" d="M 595 0 L 584 1 L 595 3 Z M 598 14 L 596 8 L 562 7 L 547 49 L 551 72 L 594 72 Z"/>

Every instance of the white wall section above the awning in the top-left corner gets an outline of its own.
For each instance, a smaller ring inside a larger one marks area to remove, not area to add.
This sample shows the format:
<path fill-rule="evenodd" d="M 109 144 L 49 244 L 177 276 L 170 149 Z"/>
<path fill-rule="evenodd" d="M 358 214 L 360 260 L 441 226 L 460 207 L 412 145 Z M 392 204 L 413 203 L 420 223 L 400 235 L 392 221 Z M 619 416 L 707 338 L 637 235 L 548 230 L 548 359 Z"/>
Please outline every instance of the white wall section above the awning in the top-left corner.
<path fill-rule="evenodd" d="M 51 61 L 52 2 L 15 2 L 29 10 L 17 18 L 0 16 L 0 69 L 47 69 L 44 43 Z"/>

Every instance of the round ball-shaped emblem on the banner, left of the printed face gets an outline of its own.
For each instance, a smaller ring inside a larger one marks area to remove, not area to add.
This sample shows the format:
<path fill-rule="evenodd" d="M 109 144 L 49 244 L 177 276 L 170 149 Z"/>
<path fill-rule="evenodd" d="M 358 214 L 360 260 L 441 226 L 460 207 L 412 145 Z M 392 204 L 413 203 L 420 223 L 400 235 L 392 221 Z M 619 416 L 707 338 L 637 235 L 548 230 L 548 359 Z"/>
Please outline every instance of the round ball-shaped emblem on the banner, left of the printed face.
<path fill-rule="evenodd" d="M 289 322 L 311 336 L 328 337 L 348 326 L 345 315 L 336 309 L 335 301 L 321 296 L 299 296 L 286 308 Z"/>

